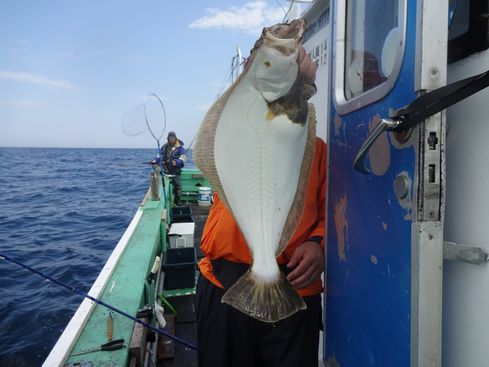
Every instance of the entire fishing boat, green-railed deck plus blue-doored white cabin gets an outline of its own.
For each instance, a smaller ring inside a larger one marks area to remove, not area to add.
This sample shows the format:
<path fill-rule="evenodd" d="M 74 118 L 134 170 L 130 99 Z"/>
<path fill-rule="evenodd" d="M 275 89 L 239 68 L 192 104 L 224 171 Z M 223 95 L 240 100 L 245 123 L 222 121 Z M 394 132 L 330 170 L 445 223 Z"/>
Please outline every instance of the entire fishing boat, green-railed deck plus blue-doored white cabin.
<path fill-rule="evenodd" d="M 303 14 L 328 143 L 325 366 L 487 365 L 488 14 L 476 0 L 315 0 Z M 198 171 L 182 178 L 198 251 L 206 208 L 195 197 L 208 184 Z M 195 260 L 191 284 L 166 289 L 174 218 L 163 183 L 90 295 L 153 327 L 163 304 L 166 330 L 192 344 Z M 74 355 L 109 339 L 125 347 Z M 85 300 L 44 365 L 192 366 L 191 347 Z"/>

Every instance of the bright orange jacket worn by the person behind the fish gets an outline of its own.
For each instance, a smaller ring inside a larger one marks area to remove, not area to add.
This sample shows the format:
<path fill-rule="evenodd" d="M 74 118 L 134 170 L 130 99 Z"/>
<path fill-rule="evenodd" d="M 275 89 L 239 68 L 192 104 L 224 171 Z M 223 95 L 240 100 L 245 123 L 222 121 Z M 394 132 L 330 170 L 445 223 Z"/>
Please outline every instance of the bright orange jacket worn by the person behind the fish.
<path fill-rule="evenodd" d="M 277 257 L 279 264 L 287 264 L 297 246 L 313 236 L 323 237 L 326 233 L 326 144 L 316 138 L 316 150 L 307 183 L 306 204 L 299 225 L 285 250 Z M 212 272 L 211 260 L 226 260 L 251 264 L 252 257 L 246 240 L 232 214 L 226 209 L 216 193 L 207 217 L 200 244 L 205 257 L 199 263 L 201 273 L 218 287 L 223 288 Z M 321 278 L 307 288 L 299 290 L 301 296 L 319 294 L 323 290 Z"/>

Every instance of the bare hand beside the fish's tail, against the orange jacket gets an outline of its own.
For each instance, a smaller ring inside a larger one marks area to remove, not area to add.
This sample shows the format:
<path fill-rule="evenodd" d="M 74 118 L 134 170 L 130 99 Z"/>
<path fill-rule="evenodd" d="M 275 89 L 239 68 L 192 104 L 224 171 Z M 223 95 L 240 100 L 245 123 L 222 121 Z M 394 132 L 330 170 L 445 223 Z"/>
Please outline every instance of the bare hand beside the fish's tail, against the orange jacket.
<path fill-rule="evenodd" d="M 313 241 L 304 242 L 295 249 L 287 267 L 295 267 L 287 276 L 290 284 L 295 289 L 307 287 L 324 271 L 323 248 Z"/>

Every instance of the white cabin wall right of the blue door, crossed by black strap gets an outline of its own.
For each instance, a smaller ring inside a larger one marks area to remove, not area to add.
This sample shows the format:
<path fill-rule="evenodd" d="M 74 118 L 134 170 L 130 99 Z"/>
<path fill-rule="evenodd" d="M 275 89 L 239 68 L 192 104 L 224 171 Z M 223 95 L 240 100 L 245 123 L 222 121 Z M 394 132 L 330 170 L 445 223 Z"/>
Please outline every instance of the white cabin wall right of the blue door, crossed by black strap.
<path fill-rule="evenodd" d="M 448 67 L 448 83 L 489 69 L 489 51 Z M 447 111 L 444 240 L 489 251 L 489 89 Z M 443 366 L 486 367 L 489 264 L 444 264 Z"/>

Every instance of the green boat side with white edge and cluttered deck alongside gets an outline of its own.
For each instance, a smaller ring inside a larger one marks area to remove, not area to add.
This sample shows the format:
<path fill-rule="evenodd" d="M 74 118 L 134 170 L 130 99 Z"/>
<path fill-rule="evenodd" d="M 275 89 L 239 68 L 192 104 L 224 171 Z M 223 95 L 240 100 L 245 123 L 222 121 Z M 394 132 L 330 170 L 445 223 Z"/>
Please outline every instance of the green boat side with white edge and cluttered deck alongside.
<path fill-rule="evenodd" d="M 175 207 L 170 178 L 161 178 L 159 166 L 154 168 L 139 209 L 88 292 L 115 310 L 85 299 L 43 366 L 154 366 L 158 360 L 159 366 L 196 365 L 190 348 L 195 344 L 193 295 L 211 189 L 197 169 L 184 168 L 181 200 L 186 205 Z M 165 313 L 157 316 L 158 306 Z M 187 345 L 118 311 L 176 334 Z M 165 328 L 158 323 L 161 316 Z"/>

